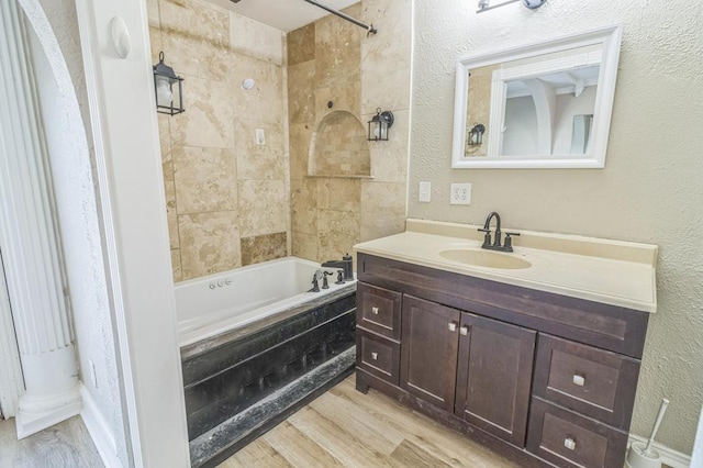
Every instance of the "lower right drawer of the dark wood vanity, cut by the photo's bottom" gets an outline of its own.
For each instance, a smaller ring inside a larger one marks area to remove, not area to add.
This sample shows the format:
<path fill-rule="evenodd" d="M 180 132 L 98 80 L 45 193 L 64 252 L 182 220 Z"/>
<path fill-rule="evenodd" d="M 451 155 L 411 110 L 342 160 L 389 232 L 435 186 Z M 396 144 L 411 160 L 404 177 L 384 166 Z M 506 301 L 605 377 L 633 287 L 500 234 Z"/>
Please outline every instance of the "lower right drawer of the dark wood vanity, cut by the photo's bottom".
<path fill-rule="evenodd" d="M 622 468 L 627 434 L 533 398 L 527 449 L 559 467 Z"/>

